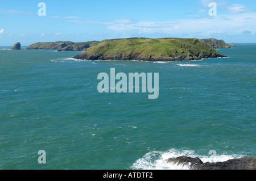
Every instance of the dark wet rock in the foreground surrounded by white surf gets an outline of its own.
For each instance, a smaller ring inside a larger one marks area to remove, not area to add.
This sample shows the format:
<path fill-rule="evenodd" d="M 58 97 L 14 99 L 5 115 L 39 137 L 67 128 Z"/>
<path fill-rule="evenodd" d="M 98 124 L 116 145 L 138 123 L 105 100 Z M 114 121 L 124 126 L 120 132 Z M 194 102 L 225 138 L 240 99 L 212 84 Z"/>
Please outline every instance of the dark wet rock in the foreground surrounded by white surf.
<path fill-rule="evenodd" d="M 199 158 L 176 157 L 167 159 L 167 163 L 188 165 L 192 170 L 256 170 L 256 158 L 243 157 L 229 159 L 225 162 L 203 163 Z"/>

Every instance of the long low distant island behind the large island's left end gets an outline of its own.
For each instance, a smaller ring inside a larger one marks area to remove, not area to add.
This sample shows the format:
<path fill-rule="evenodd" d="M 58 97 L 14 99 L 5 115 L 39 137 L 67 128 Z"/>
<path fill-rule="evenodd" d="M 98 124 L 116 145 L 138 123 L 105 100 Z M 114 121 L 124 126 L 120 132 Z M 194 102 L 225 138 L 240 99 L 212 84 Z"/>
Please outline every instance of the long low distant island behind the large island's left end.
<path fill-rule="evenodd" d="M 100 41 L 86 41 L 83 43 L 73 43 L 72 41 L 56 41 L 56 42 L 38 42 L 27 47 L 27 49 L 58 49 L 62 51 L 77 51 L 86 50 L 94 45 L 97 45 Z"/>

